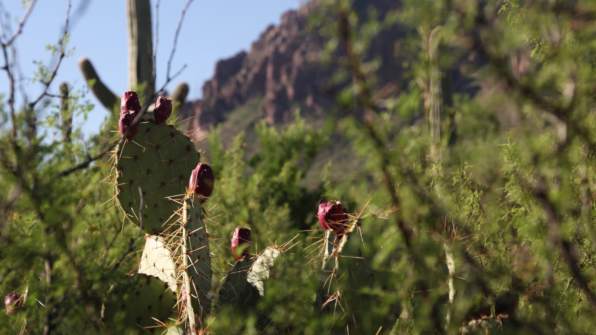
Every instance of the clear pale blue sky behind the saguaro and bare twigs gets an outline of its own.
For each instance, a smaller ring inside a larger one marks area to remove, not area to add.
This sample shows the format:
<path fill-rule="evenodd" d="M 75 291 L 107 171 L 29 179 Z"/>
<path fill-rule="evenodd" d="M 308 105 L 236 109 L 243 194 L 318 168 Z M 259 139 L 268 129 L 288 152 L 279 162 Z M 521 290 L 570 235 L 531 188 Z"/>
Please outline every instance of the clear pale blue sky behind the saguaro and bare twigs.
<path fill-rule="evenodd" d="M 86 56 L 91 59 L 103 82 L 116 94 L 128 90 L 127 85 L 127 38 L 125 2 L 123 0 L 90 0 L 86 11 L 75 17 L 76 9 L 83 0 L 72 0 L 70 46 L 75 53 L 65 58 L 58 76 L 51 86 L 56 92 L 60 82 L 67 81 L 82 87 L 85 79 L 79 72 L 77 60 Z M 241 50 L 248 50 L 254 40 L 269 24 L 278 24 L 281 14 L 296 9 L 301 0 L 194 0 L 185 17 L 178 38 L 176 54 L 172 61 L 172 73 L 184 64 L 187 68 L 167 87 L 170 91 L 184 80 L 190 86 L 187 99 L 201 97 L 201 87 L 213 75 L 215 63 Z M 187 0 L 162 0 L 159 8 L 159 49 L 157 51 L 157 83 L 163 85 L 167 59 L 172 49 L 173 36 L 178 26 L 182 8 Z M 0 0 L 11 14 L 13 29 L 24 14 L 21 0 Z M 153 8 L 156 0 L 151 0 Z M 36 65 L 33 61 L 51 63 L 52 58 L 45 45 L 55 44 L 63 29 L 66 0 L 38 0 L 32 14 L 17 39 L 18 57 L 24 77 L 32 77 Z M 155 22 L 155 12 L 152 19 Z M 155 27 L 153 27 L 155 34 Z M 2 61 L 3 63 L 3 61 Z M 0 73 L 0 88 L 6 92 L 8 80 Z M 30 95 L 41 92 L 39 85 L 27 85 Z M 107 111 L 91 95 L 95 109 L 83 126 L 85 134 L 98 131 L 98 125 Z M 76 120 L 81 123 L 82 120 Z"/>

